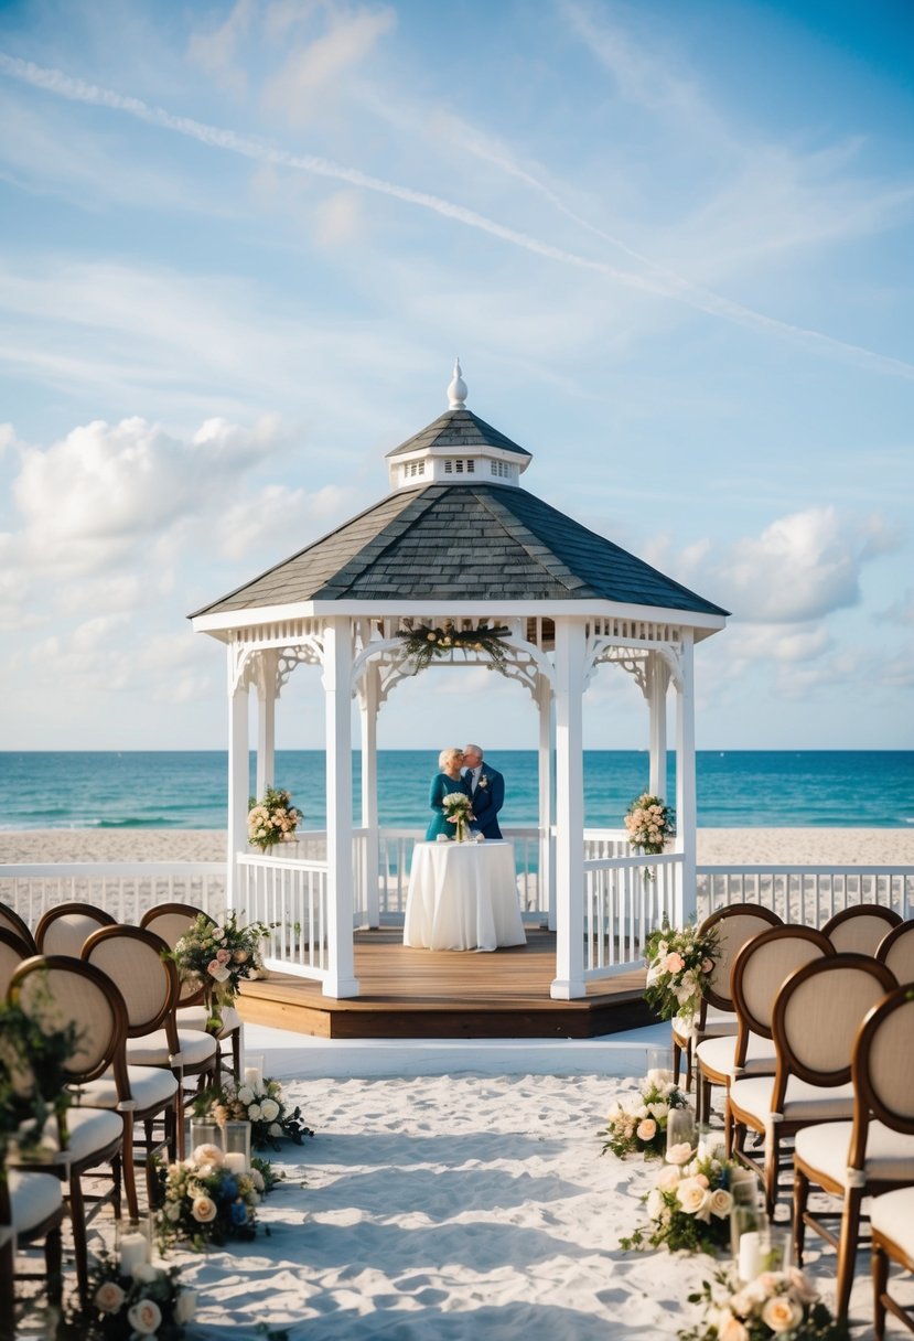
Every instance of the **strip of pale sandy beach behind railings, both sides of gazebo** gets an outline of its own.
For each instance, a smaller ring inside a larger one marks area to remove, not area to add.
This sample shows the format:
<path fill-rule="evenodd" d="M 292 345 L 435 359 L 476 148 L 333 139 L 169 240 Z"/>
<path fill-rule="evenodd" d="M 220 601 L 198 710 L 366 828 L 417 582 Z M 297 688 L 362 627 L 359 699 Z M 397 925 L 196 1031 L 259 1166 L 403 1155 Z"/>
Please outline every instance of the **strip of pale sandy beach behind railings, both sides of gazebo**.
<path fill-rule="evenodd" d="M 213 829 L 0 830 L 0 865 L 79 861 L 222 861 Z M 914 866 L 910 829 L 700 829 L 700 865 Z"/>

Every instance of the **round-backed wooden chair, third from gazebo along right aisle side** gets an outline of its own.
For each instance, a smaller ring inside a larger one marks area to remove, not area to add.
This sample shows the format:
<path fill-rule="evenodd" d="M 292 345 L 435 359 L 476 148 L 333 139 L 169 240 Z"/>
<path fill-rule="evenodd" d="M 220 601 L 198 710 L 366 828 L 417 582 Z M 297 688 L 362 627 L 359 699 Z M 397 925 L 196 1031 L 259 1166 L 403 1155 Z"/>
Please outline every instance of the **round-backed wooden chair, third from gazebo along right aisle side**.
<path fill-rule="evenodd" d="M 761 1176 L 771 1219 L 783 1143 L 804 1126 L 854 1116 L 854 1043 L 863 1016 L 895 986 L 875 959 L 830 955 L 797 968 L 777 992 L 772 1015 L 775 1078 L 734 1080 L 726 1100 L 733 1151 Z M 759 1159 L 746 1153 L 749 1132 L 764 1137 Z"/>

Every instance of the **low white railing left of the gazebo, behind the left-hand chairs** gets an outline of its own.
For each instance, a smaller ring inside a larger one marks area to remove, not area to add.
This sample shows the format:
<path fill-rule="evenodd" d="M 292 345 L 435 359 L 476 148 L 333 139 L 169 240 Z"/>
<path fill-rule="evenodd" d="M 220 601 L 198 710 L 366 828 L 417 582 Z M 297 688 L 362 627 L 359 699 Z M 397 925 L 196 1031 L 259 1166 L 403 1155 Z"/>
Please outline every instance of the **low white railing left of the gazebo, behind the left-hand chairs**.
<path fill-rule="evenodd" d="M 58 904 L 105 908 L 118 921 L 138 924 L 158 904 L 193 904 L 212 917 L 225 913 L 224 861 L 74 862 L 0 866 L 0 902 L 28 925 Z"/>

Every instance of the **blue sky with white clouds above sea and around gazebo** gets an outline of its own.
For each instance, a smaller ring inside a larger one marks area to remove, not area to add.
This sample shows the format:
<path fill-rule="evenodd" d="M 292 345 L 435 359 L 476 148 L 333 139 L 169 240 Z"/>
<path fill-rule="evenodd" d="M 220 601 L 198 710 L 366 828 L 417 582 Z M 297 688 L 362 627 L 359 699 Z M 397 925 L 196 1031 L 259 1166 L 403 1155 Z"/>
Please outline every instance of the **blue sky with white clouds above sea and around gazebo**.
<path fill-rule="evenodd" d="M 454 354 L 733 611 L 700 748 L 914 747 L 913 51 L 907 0 L 3 4 L 0 747 L 222 747 L 185 616 L 382 498 Z M 381 744 L 532 747 L 495 679 Z M 614 668 L 586 736 L 646 744 Z"/>

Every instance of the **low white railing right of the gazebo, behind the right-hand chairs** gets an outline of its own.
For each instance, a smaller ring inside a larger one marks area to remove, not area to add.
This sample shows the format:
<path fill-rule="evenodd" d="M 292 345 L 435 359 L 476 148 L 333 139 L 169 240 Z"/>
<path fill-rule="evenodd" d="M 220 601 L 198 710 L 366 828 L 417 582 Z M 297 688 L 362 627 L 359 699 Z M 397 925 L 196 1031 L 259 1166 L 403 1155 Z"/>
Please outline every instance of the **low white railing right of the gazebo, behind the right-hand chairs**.
<path fill-rule="evenodd" d="M 822 927 L 856 904 L 914 913 L 910 866 L 698 866 L 698 920 L 726 904 L 761 904 L 784 921 Z"/>

